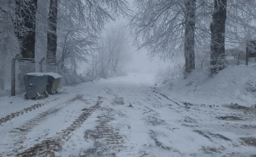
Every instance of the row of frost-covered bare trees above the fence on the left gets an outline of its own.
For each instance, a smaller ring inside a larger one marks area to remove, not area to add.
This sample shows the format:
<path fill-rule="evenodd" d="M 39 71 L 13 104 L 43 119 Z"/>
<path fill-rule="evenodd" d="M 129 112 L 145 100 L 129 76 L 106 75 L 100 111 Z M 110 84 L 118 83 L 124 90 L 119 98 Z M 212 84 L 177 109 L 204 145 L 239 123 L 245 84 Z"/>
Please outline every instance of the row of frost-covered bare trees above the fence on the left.
<path fill-rule="evenodd" d="M 8 54 L 19 45 L 15 53 L 22 58 L 46 56 L 75 71 L 99 46 L 105 23 L 128 11 L 126 0 L 1 0 L 0 48 Z"/>

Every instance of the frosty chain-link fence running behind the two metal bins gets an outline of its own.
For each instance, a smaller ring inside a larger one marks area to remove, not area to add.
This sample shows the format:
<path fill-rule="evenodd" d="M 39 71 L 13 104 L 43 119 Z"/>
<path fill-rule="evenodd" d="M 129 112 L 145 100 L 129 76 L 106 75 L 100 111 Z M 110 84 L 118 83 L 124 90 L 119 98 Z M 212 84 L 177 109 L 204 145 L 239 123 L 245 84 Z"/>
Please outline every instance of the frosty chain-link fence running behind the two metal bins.
<path fill-rule="evenodd" d="M 26 73 L 58 73 L 63 76 L 60 86 L 78 84 L 89 80 L 89 78 L 83 76 L 64 73 L 58 67 L 56 61 L 45 58 L 38 62 L 35 59 L 23 59 L 19 58 L 19 56 L 14 57 L 11 61 L 2 60 L 0 59 L 0 97 L 24 93 L 23 77 Z M 39 67 L 38 70 L 36 67 Z"/>

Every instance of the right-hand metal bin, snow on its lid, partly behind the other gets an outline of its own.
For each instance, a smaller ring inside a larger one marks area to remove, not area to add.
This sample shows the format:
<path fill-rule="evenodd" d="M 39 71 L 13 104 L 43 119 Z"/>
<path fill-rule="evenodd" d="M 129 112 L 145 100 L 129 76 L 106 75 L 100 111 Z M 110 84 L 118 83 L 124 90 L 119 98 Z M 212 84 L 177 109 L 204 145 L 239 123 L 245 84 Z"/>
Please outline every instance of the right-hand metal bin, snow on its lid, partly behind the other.
<path fill-rule="evenodd" d="M 44 73 L 44 75 L 47 76 L 46 92 L 49 94 L 58 93 L 57 89 L 62 76 L 57 73 Z"/>

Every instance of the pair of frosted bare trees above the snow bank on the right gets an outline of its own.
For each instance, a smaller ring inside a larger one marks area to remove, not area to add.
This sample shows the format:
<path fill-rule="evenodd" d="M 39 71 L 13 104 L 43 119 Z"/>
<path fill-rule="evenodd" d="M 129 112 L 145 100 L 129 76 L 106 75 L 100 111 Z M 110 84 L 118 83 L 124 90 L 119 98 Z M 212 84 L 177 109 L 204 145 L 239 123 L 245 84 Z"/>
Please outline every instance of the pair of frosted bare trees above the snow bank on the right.
<path fill-rule="evenodd" d="M 211 47 L 211 72 L 226 66 L 225 44 L 235 45 L 256 32 L 253 0 L 135 0 L 130 20 L 138 48 L 151 57 L 185 57 L 185 75 L 195 68 L 195 49 Z M 225 43 L 226 41 L 226 43 Z M 209 44 L 210 43 L 210 44 Z"/>

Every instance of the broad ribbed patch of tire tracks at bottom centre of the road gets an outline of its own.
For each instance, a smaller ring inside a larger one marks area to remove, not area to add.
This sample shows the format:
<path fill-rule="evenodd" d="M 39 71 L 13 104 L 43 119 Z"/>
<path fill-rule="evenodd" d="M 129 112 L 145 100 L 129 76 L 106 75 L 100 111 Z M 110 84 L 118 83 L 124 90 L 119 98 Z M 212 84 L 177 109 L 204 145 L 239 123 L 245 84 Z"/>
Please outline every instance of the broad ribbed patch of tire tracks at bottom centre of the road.
<path fill-rule="evenodd" d="M 123 137 L 119 131 L 111 126 L 109 122 L 115 120 L 116 113 L 113 109 L 101 108 L 103 114 L 98 116 L 99 125 L 94 130 L 85 131 L 85 140 L 91 138 L 94 140 L 94 147 L 85 150 L 85 157 L 115 157 L 117 152 L 120 152 L 123 146 Z"/>

